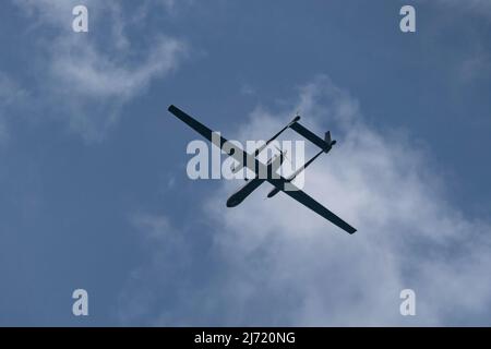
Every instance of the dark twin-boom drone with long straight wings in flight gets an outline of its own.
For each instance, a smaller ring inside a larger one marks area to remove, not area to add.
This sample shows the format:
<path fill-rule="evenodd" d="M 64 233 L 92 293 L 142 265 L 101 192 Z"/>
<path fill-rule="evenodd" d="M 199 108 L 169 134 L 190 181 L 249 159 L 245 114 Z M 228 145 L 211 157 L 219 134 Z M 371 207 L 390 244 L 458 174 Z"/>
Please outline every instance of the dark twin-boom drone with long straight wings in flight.
<path fill-rule="evenodd" d="M 328 153 L 333 145 L 336 144 L 336 141 L 331 140 L 331 132 L 326 132 L 324 140 L 312 133 L 310 130 L 306 129 L 303 125 L 301 125 L 298 121 L 300 120 L 300 117 L 295 117 L 294 120 L 291 120 L 285 128 L 283 128 L 278 133 L 276 133 L 271 140 L 268 140 L 264 145 L 262 145 L 260 148 L 255 149 L 253 154 L 249 154 L 248 152 L 241 149 L 237 145 L 233 145 L 232 143 L 228 142 L 226 139 L 224 139 L 218 133 L 212 131 L 191 116 L 187 115 L 184 111 L 180 110 L 179 108 L 175 106 L 170 106 L 168 109 L 173 116 L 176 116 L 179 120 L 187 123 L 190 128 L 192 128 L 194 131 L 200 133 L 202 136 L 204 136 L 206 140 L 218 146 L 223 152 L 225 152 L 227 155 L 232 157 L 238 165 L 232 165 L 231 170 L 232 172 L 239 171 L 244 166 L 251 169 L 255 177 L 252 179 L 247 179 L 246 184 L 241 186 L 237 192 L 235 192 L 227 200 L 227 207 L 235 207 L 239 205 L 246 197 L 248 197 L 255 189 L 258 189 L 262 183 L 267 181 L 268 183 L 273 184 L 274 189 L 267 194 L 267 197 L 273 197 L 279 192 L 284 192 L 288 196 L 295 198 L 302 205 L 309 207 L 320 216 L 324 217 L 332 224 L 336 225 L 340 229 L 347 231 L 348 233 L 354 233 L 357 231 L 354 227 L 351 227 L 349 224 L 344 221 L 342 218 L 336 216 L 334 213 L 325 208 L 323 205 L 318 203 L 315 200 L 313 200 L 311 196 L 302 192 L 299 188 L 295 186 L 291 181 L 300 173 L 302 172 L 310 164 L 312 164 L 322 153 Z M 258 155 L 267 147 L 267 145 L 271 144 L 275 139 L 277 139 L 285 130 L 291 129 L 315 144 L 318 147 L 321 148 L 321 152 L 319 152 L 313 158 L 311 158 L 309 161 L 307 161 L 302 167 L 300 167 L 298 170 L 296 170 L 291 176 L 288 178 L 284 178 L 276 173 L 277 169 L 282 166 L 286 155 L 279 151 L 279 155 L 272 157 L 267 164 L 263 164 L 258 159 Z M 285 186 L 285 184 L 288 185 L 288 189 Z"/>

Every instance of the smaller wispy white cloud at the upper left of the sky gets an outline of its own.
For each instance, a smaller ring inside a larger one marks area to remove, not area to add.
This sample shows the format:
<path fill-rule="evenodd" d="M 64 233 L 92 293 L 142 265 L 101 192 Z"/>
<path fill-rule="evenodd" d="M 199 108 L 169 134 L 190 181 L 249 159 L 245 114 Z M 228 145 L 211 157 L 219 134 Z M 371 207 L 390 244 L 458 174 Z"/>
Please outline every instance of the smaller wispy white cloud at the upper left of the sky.
<path fill-rule="evenodd" d="M 84 1 L 88 34 L 71 29 L 72 9 L 80 1 L 14 2 L 34 20 L 31 29 L 43 33 L 33 56 L 45 92 L 40 104 L 61 110 L 71 130 L 87 141 L 100 140 L 121 107 L 175 70 L 187 51 L 182 40 L 161 33 L 133 43 L 127 23 L 133 23 L 134 13 L 125 13 L 120 2 Z M 137 4 L 132 7 L 137 11 Z"/>

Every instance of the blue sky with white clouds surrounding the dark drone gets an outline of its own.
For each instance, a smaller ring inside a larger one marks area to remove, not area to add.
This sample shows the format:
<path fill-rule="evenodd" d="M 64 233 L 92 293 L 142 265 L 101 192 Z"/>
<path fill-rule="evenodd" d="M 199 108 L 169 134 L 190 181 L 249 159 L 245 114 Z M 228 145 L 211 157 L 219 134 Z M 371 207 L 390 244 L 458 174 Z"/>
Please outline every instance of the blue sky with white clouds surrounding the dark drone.
<path fill-rule="evenodd" d="M 490 27 L 484 0 L 4 1 L 0 324 L 489 325 Z M 170 104 L 239 140 L 332 130 L 306 191 L 359 232 L 267 188 L 227 209 Z"/>

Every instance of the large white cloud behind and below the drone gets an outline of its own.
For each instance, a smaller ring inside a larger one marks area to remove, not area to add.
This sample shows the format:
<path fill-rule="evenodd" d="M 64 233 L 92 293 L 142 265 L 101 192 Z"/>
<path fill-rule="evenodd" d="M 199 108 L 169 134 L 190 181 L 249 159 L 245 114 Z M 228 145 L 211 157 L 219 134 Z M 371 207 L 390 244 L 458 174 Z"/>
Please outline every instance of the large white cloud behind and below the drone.
<path fill-rule="evenodd" d="M 226 208 L 237 183 L 225 182 L 196 217 L 207 221 L 199 234 L 217 262 L 180 264 L 182 254 L 195 261 L 193 249 L 205 246 L 195 244 L 197 232 L 166 225 L 168 234 L 158 240 L 166 250 L 123 291 L 124 318 L 159 325 L 489 324 L 490 224 L 448 202 L 452 188 L 410 137 L 368 125 L 357 101 L 320 77 L 288 110 L 255 110 L 238 139 L 273 134 L 298 108 L 313 130 L 331 129 L 338 140 L 309 168 L 306 192 L 359 231 L 349 236 L 284 194 L 265 201 L 267 185 Z M 416 291 L 416 317 L 399 314 L 405 288 Z"/>

